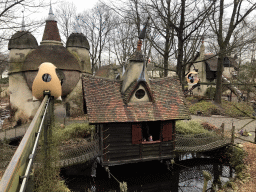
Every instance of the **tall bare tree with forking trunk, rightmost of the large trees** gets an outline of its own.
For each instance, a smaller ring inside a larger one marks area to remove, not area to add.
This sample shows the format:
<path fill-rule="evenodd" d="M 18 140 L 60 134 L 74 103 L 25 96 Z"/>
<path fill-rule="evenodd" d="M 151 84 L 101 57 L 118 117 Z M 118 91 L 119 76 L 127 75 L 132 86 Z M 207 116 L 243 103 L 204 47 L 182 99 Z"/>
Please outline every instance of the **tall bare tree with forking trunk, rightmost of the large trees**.
<path fill-rule="evenodd" d="M 243 7 L 246 7 L 246 9 L 243 9 Z M 220 0 L 214 5 L 214 9 L 215 11 L 210 17 L 210 24 L 217 36 L 219 46 L 215 102 L 221 103 L 223 61 L 224 57 L 230 52 L 229 45 L 232 34 L 239 24 L 256 9 L 256 3 L 246 0 L 233 0 L 231 3 L 227 3 L 225 0 Z"/>

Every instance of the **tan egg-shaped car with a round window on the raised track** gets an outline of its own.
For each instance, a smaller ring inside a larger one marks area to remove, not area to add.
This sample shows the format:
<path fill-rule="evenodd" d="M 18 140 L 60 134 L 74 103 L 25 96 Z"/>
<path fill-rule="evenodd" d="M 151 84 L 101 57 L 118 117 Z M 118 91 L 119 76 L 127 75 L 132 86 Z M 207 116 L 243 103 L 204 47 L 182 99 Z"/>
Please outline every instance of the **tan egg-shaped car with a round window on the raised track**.
<path fill-rule="evenodd" d="M 44 91 L 50 91 L 51 96 L 61 100 L 61 82 L 56 74 L 56 67 L 52 63 L 42 63 L 32 84 L 33 100 L 43 100 Z"/>

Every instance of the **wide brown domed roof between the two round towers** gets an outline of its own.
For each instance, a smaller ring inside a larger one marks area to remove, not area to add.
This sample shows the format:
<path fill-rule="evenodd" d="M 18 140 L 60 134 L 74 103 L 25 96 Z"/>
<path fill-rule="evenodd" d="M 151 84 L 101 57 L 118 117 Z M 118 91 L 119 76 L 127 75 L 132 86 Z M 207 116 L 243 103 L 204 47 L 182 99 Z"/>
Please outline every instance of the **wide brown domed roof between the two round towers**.
<path fill-rule="evenodd" d="M 29 53 L 22 71 L 38 70 L 39 65 L 50 62 L 59 69 L 80 71 L 77 59 L 63 46 L 41 45 Z"/>

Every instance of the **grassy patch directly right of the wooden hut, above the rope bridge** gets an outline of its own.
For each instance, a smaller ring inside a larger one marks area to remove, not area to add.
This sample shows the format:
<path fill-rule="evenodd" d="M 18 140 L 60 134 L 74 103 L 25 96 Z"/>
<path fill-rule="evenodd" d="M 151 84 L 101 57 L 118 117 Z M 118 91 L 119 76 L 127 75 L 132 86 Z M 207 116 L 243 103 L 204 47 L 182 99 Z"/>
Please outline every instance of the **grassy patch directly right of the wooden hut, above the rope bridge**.
<path fill-rule="evenodd" d="M 205 130 L 203 125 L 195 120 L 191 121 L 176 121 L 176 133 L 181 135 L 196 135 L 196 134 L 209 134 L 213 133 Z"/>

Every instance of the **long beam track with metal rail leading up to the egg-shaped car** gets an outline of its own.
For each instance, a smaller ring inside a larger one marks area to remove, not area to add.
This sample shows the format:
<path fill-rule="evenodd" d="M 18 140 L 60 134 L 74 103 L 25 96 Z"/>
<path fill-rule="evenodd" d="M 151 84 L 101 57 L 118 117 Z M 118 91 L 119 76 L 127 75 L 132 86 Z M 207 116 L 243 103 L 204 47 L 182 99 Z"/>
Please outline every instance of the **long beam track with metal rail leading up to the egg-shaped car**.
<path fill-rule="evenodd" d="M 30 175 L 31 165 L 35 156 L 35 149 L 38 143 L 39 134 L 43 127 L 49 127 L 45 123 L 46 116 L 52 116 L 53 100 L 50 95 L 45 95 L 36 115 L 20 142 L 11 162 L 9 163 L 0 182 L 1 192 L 25 191 Z"/>

